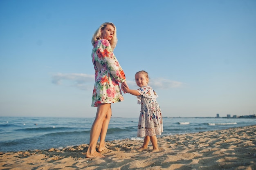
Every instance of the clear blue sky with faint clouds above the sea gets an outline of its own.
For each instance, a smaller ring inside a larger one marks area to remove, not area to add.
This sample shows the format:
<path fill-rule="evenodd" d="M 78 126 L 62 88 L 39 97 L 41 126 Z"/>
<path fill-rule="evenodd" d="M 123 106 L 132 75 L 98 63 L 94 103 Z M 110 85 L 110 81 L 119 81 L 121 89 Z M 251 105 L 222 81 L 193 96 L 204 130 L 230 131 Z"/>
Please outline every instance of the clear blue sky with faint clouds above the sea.
<path fill-rule="evenodd" d="M 255 0 L 0 0 L 0 116 L 94 117 L 91 38 L 117 26 L 130 88 L 146 70 L 163 116 L 256 111 Z M 114 117 L 139 117 L 135 96 Z"/>

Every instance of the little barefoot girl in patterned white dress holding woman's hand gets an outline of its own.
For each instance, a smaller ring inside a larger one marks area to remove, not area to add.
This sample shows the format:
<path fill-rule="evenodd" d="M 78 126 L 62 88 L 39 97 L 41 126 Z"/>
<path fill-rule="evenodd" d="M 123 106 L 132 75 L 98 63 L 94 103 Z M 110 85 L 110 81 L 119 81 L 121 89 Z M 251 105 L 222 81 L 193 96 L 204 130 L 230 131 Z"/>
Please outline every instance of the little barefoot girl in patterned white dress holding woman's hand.
<path fill-rule="evenodd" d="M 151 141 L 153 152 L 159 151 L 156 135 L 163 132 L 163 120 L 161 109 L 156 101 L 158 97 L 155 91 L 148 86 L 148 73 L 138 71 L 135 74 L 138 90 L 132 90 L 124 87 L 124 92 L 137 96 L 138 104 L 141 104 L 138 125 L 138 137 L 144 137 L 144 143 L 139 149 L 147 149 Z"/>

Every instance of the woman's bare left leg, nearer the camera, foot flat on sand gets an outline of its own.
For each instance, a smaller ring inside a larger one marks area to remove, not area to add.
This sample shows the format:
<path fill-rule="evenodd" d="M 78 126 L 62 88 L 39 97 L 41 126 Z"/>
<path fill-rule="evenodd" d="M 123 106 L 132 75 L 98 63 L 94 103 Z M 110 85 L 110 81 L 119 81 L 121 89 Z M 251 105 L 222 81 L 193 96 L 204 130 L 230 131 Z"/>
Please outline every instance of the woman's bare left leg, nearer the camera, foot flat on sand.
<path fill-rule="evenodd" d="M 99 139 L 99 135 L 101 133 L 103 121 L 105 120 L 106 115 L 108 114 L 108 110 L 110 109 L 110 106 L 111 104 L 98 105 L 96 117 L 90 131 L 90 144 L 86 152 L 86 157 L 88 158 L 104 157 L 103 155 L 101 155 L 99 152 L 96 151 L 96 144 Z"/>

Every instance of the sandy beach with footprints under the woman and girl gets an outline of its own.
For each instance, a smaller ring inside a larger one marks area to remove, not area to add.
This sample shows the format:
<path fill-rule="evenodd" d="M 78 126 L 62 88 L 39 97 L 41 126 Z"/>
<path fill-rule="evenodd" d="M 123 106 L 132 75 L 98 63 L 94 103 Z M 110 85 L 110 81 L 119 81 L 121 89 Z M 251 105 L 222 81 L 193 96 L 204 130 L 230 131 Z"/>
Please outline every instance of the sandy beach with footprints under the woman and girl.
<path fill-rule="evenodd" d="M 88 144 L 58 150 L 0 152 L 0 170 L 256 170 L 256 125 L 158 137 L 160 152 L 143 141 L 107 141 L 104 158 L 85 157 Z"/>

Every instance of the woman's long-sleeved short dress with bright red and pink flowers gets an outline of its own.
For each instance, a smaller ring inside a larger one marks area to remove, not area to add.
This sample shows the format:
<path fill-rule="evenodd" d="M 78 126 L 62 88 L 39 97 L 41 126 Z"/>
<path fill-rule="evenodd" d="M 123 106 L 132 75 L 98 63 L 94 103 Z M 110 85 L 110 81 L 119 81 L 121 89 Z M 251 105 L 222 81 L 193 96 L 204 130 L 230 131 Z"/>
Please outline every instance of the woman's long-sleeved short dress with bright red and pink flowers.
<path fill-rule="evenodd" d="M 92 49 L 92 63 L 95 69 L 95 84 L 91 106 L 123 101 L 119 83 L 124 82 L 126 77 L 108 40 L 95 42 Z M 97 68 L 97 64 L 100 68 Z"/>

